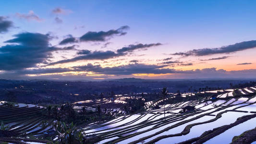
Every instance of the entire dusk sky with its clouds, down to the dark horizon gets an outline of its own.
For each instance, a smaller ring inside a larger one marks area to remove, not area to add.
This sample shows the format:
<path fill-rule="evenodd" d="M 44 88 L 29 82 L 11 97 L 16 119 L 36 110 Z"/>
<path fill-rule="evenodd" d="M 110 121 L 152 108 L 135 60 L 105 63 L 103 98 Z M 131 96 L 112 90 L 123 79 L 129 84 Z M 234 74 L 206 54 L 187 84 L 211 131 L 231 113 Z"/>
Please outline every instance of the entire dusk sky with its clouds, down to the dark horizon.
<path fill-rule="evenodd" d="M 256 78 L 255 0 L 0 1 L 0 78 Z"/>

